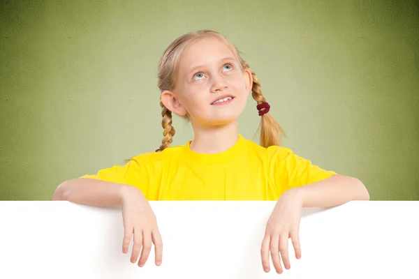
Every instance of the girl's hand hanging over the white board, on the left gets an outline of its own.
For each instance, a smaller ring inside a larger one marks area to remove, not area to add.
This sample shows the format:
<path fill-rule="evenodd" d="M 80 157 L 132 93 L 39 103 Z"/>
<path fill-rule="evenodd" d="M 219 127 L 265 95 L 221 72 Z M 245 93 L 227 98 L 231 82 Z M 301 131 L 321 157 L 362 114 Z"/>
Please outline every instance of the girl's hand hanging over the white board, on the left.
<path fill-rule="evenodd" d="M 149 252 L 152 250 L 153 242 L 156 255 L 155 263 L 159 266 L 161 264 L 163 243 L 157 227 L 156 216 L 149 202 L 138 188 L 128 186 L 122 192 L 122 219 L 124 220 L 122 252 L 124 254 L 128 252 L 128 246 L 134 234 L 131 262 L 137 262 L 142 248 L 138 266 L 144 266 L 149 257 Z"/>

